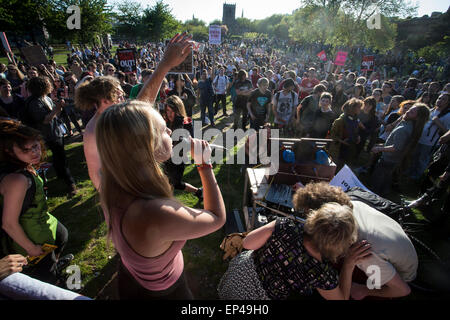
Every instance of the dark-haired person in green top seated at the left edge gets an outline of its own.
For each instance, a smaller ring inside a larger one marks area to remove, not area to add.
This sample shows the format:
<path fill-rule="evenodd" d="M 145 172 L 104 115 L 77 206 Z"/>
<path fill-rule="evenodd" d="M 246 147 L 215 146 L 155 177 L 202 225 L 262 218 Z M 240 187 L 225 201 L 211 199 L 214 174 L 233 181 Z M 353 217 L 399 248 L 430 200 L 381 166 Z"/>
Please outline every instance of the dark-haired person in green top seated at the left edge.
<path fill-rule="evenodd" d="M 44 253 L 42 245 L 55 245 L 29 274 L 56 282 L 57 274 L 73 256 L 59 259 L 68 231 L 48 213 L 43 182 L 36 173 L 45 156 L 40 133 L 17 120 L 0 120 L 0 136 L 1 251 L 36 257 Z"/>

